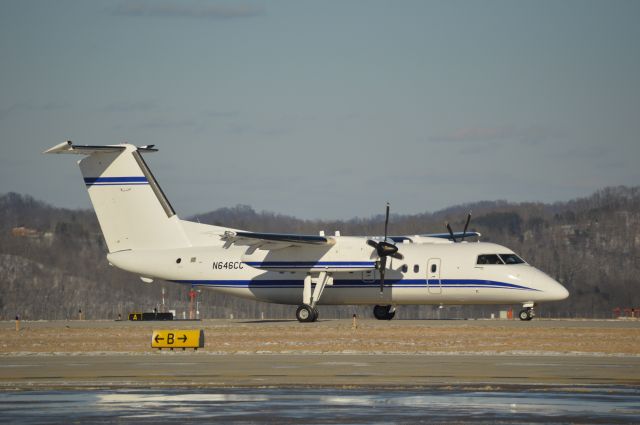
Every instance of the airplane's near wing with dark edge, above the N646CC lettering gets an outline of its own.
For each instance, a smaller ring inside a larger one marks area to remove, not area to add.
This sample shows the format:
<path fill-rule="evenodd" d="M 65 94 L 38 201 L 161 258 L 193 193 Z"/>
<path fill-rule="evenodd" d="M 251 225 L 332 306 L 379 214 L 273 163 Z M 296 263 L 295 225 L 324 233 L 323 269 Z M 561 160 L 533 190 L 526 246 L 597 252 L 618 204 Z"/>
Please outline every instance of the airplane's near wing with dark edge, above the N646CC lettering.
<path fill-rule="evenodd" d="M 333 245 L 335 239 L 318 235 L 295 235 L 289 233 L 256 233 L 227 231 L 222 235 L 225 246 L 232 244 L 254 249 L 281 249 L 292 246 Z"/>

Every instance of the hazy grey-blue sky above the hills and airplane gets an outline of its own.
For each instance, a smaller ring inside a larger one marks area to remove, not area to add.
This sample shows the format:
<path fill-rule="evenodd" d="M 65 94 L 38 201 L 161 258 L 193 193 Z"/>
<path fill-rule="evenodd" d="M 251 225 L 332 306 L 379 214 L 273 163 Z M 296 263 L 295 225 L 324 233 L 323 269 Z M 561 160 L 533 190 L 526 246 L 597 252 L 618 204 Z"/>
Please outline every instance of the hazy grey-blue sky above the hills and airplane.
<path fill-rule="evenodd" d="M 0 193 L 89 208 L 65 141 L 155 144 L 182 216 L 640 184 L 639 1 L 1 1 Z"/>

